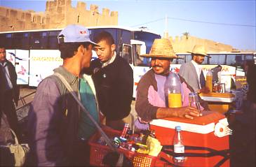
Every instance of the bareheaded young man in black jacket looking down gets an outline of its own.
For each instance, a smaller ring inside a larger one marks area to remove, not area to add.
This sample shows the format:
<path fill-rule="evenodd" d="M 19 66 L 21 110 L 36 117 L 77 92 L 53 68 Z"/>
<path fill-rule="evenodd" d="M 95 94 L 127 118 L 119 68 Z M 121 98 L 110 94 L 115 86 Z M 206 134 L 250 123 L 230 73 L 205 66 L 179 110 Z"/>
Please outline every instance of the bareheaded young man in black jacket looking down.
<path fill-rule="evenodd" d="M 100 45 L 94 48 L 98 59 L 91 63 L 100 110 L 107 126 L 121 130 L 130 122 L 133 70 L 125 59 L 116 55 L 114 39 L 107 31 L 97 34 L 94 41 Z"/>

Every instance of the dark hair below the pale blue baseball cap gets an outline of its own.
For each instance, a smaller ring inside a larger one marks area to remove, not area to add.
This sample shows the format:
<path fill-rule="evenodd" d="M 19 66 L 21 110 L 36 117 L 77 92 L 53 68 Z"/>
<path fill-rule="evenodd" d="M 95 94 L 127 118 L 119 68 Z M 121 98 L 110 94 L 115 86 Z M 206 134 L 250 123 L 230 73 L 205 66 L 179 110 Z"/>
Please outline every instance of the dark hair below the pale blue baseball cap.
<path fill-rule="evenodd" d="M 92 43 L 59 43 L 60 57 L 62 59 L 73 57 L 74 52 L 77 51 L 80 45 L 83 45 L 84 48 L 88 49 L 88 46 L 92 45 Z"/>

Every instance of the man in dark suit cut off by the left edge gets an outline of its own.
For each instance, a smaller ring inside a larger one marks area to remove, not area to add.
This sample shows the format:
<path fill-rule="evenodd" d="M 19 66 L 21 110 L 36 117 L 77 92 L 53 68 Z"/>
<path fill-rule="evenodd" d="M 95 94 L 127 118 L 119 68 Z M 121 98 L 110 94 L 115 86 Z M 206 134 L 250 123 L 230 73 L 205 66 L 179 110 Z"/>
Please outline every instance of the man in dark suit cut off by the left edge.
<path fill-rule="evenodd" d="M 17 74 L 15 67 L 6 59 L 6 49 L 0 46 L 0 126 L 1 117 L 4 113 L 8 124 L 15 131 L 20 140 L 21 133 L 18 128 L 18 117 L 15 106 L 18 106 L 20 89 L 17 85 Z"/>

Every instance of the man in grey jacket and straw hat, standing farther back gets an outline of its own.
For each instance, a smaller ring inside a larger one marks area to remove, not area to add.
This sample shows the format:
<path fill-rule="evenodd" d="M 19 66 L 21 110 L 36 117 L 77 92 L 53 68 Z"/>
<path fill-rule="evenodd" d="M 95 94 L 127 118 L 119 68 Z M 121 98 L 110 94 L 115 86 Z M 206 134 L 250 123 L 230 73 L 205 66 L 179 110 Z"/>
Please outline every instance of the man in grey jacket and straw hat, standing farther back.
<path fill-rule="evenodd" d="M 209 89 L 206 87 L 206 79 L 203 75 L 202 68 L 199 64 L 202 64 L 207 55 L 206 48 L 203 45 L 194 45 L 191 61 L 180 66 L 179 74 L 184 80 L 191 86 L 194 91 L 208 93 Z"/>

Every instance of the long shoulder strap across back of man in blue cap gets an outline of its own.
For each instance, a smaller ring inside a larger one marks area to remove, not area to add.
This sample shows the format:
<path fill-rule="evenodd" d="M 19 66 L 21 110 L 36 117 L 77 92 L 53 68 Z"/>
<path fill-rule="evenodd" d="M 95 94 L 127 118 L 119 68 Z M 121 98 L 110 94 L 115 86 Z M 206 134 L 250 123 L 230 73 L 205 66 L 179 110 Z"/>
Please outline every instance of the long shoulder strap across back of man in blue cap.
<path fill-rule="evenodd" d="M 58 78 L 60 78 L 60 80 L 62 81 L 62 83 L 65 85 L 65 87 L 67 87 L 67 90 L 69 91 L 70 94 L 72 94 L 72 96 L 74 97 L 75 101 L 79 104 L 79 106 L 81 107 L 82 111 L 86 113 L 86 115 L 89 117 L 89 119 L 93 122 L 93 124 L 97 127 L 97 130 L 100 131 L 100 133 L 102 134 L 102 136 L 105 138 L 105 141 L 107 143 L 107 145 L 109 145 L 109 147 L 113 150 L 116 151 L 116 147 L 114 147 L 114 145 L 112 144 L 112 142 L 109 140 L 109 138 L 107 137 L 106 133 L 100 128 L 100 125 L 93 119 L 93 117 L 90 115 L 90 112 L 88 112 L 88 110 L 86 110 L 86 108 L 83 106 L 83 104 L 81 103 L 81 101 L 77 98 L 76 94 L 74 93 L 74 90 L 72 89 L 72 87 L 69 85 L 69 83 L 67 82 L 67 80 L 60 74 L 60 73 L 54 73 L 53 75 L 56 75 Z"/>

